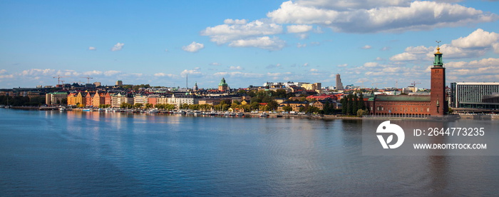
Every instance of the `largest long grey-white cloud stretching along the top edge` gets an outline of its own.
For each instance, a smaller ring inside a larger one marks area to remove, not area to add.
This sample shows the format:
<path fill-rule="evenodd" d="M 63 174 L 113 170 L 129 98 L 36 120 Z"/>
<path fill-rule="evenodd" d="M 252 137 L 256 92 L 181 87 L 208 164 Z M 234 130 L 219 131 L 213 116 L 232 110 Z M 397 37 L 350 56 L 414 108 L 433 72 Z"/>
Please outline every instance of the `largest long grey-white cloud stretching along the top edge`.
<path fill-rule="evenodd" d="M 318 3 L 314 6 L 314 2 Z M 496 14 L 484 14 L 458 4 L 388 0 L 285 1 L 267 17 L 278 24 L 319 24 L 334 31 L 355 33 L 421 31 L 498 19 Z"/>

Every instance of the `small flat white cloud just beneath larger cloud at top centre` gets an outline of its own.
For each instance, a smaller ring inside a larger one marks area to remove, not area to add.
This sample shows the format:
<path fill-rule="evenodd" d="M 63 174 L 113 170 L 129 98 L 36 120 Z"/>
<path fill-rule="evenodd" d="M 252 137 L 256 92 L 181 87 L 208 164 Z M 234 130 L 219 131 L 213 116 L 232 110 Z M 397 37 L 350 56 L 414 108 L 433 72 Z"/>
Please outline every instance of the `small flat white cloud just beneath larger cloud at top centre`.
<path fill-rule="evenodd" d="M 237 41 L 232 41 L 229 46 L 233 47 L 257 47 L 261 49 L 267 49 L 269 51 L 278 51 L 285 46 L 285 42 L 281 39 L 274 37 L 269 38 L 268 36 L 254 38 L 254 39 L 241 39 Z"/>

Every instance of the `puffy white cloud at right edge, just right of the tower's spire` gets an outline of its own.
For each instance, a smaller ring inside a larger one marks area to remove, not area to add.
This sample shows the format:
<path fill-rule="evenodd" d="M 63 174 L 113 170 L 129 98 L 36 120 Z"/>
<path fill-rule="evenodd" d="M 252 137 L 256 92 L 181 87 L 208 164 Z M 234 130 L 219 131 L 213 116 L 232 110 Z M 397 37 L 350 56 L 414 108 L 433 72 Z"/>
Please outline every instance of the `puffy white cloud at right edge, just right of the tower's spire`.
<path fill-rule="evenodd" d="M 499 34 L 477 29 L 466 37 L 453 40 L 452 45 L 461 48 L 490 47 L 499 40 Z"/>

